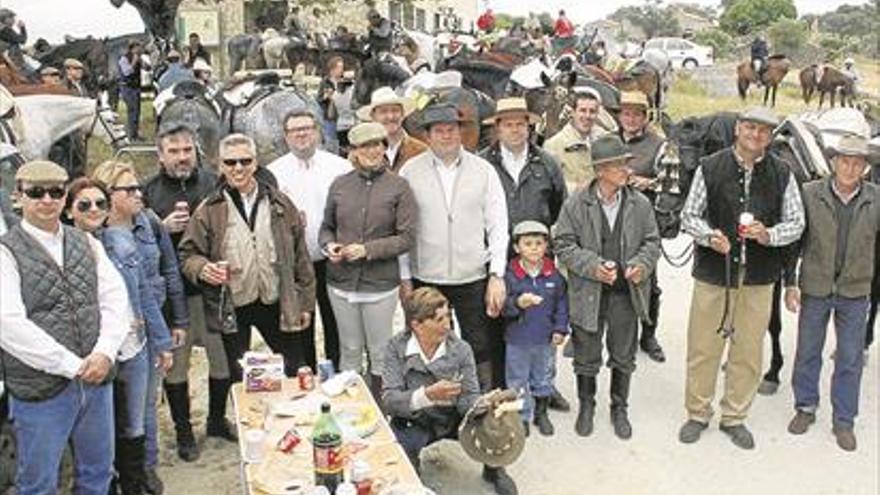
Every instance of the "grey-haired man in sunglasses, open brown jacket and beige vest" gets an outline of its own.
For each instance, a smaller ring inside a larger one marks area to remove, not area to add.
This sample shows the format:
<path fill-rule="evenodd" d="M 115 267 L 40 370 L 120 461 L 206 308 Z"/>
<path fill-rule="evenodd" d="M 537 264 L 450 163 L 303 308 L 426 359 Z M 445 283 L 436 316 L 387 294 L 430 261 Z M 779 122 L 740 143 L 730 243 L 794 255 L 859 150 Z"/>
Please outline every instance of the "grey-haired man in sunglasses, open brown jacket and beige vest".
<path fill-rule="evenodd" d="M 231 134 L 220 141 L 222 176 L 192 215 L 180 241 L 184 275 L 202 289 L 209 332 L 223 334 L 234 381 L 257 327 L 293 376 L 305 364 L 294 332 L 315 306 L 315 274 L 299 212 L 257 166 L 254 140 Z M 230 318 L 233 313 L 234 318 Z"/>

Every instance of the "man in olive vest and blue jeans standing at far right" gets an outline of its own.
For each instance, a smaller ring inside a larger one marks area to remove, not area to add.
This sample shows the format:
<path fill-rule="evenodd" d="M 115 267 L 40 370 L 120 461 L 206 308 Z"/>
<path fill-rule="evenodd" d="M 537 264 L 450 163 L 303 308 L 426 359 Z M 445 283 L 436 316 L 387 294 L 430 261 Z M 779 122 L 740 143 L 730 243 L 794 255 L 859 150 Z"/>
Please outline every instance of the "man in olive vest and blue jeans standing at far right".
<path fill-rule="evenodd" d="M 792 374 L 795 435 L 816 421 L 819 376 L 828 319 L 834 315 L 836 351 L 831 381 L 832 432 L 837 445 L 856 450 L 854 433 L 862 377 L 865 318 L 876 269 L 880 188 L 864 179 L 868 140 L 849 135 L 829 150 L 833 175 L 804 185 L 807 229 L 801 240 L 799 288 L 788 287 L 785 304 L 799 311 Z"/>

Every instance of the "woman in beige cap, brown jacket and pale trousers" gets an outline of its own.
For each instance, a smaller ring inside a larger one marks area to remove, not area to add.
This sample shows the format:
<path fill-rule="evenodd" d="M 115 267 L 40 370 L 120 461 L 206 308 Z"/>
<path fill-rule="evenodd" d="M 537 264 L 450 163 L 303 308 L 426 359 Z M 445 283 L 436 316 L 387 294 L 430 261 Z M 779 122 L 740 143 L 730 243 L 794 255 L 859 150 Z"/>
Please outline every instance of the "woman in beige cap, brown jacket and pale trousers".
<path fill-rule="evenodd" d="M 349 133 L 355 170 L 330 186 L 318 242 L 327 254 L 327 294 L 339 322 L 339 367 L 362 372 L 382 390 L 382 354 L 391 338 L 400 271 L 397 257 L 414 241 L 416 204 L 406 180 L 389 171 L 385 127 L 358 124 Z"/>

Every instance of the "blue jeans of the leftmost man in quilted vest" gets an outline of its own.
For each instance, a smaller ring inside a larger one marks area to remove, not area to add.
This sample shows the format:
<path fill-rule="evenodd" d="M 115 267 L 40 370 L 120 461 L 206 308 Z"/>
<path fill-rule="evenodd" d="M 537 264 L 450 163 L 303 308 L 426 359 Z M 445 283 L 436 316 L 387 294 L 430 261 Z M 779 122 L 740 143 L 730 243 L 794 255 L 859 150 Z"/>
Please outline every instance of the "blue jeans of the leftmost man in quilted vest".
<path fill-rule="evenodd" d="M 58 467 L 68 442 L 74 452 L 77 495 L 106 495 L 113 475 L 113 391 L 71 381 L 51 399 L 10 399 L 17 442 L 18 495 L 58 491 Z"/>

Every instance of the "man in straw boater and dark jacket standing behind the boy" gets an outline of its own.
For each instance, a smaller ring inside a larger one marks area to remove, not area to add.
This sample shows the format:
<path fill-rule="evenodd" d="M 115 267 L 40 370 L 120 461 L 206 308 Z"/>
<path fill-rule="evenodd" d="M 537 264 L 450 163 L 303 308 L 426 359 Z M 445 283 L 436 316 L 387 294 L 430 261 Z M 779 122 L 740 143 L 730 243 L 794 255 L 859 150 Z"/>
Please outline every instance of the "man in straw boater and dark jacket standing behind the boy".
<path fill-rule="evenodd" d="M 550 153 L 531 142 L 532 126 L 541 122 L 529 111 L 525 98 L 498 100 L 495 114 L 483 123 L 495 126 L 498 141 L 480 151 L 498 173 L 507 198 L 508 225 L 513 228 L 525 220 L 534 220 L 548 228 L 556 223 L 562 203 L 568 196 L 559 162 Z M 513 254 L 512 247 L 508 256 Z M 553 378 L 556 378 L 555 360 Z M 568 402 L 554 387 L 550 407 L 567 411 Z"/>

